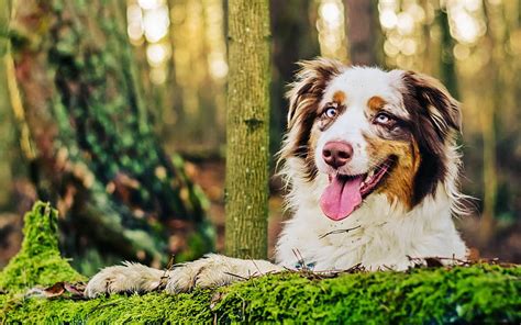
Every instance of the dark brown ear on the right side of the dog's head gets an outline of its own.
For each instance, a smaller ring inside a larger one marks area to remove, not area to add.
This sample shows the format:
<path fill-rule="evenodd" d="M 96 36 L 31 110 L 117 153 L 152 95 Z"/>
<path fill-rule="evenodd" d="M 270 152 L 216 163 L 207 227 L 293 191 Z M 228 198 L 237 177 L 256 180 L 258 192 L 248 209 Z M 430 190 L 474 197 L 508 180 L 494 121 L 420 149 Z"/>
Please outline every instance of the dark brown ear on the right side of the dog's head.
<path fill-rule="evenodd" d="M 462 131 L 459 103 L 436 79 L 412 71 L 402 74 L 403 104 L 418 125 L 419 139 L 433 153 L 452 141 L 454 132 Z"/>

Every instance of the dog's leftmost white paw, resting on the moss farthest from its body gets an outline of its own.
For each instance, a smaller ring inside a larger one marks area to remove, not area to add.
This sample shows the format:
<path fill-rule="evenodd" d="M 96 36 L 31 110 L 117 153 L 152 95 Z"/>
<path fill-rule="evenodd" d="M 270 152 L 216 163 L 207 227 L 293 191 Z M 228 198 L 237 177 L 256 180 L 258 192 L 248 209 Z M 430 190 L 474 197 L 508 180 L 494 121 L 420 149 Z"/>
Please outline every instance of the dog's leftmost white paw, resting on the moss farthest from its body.
<path fill-rule="evenodd" d="M 159 287 L 164 273 L 162 270 L 131 262 L 108 267 L 90 279 L 84 295 L 96 298 L 106 293 L 153 291 Z"/>

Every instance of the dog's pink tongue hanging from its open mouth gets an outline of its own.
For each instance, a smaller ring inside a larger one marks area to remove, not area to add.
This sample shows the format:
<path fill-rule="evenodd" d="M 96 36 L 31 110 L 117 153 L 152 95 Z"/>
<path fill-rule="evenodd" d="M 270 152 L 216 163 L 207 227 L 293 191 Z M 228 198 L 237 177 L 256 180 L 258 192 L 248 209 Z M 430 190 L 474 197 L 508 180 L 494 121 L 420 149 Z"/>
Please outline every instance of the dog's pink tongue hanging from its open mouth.
<path fill-rule="evenodd" d="M 320 198 L 322 212 L 334 221 L 347 217 L 362 202 L 362 176 L 342 179 L 333 177 Z"/>

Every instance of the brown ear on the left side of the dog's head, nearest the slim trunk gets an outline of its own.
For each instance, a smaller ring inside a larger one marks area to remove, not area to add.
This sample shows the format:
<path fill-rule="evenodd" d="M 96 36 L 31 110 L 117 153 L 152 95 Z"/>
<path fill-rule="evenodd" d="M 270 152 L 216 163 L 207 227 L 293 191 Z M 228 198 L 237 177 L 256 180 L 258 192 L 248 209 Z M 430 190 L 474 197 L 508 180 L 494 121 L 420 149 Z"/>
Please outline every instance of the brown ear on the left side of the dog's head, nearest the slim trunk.
<path fill-rule="evenodd" d="M 289 99 L 288 128 L 299 120 L 302 122 L 307 115 L 317 113 L 328 81 L 342 71 L 340 61 L 326 58 L 302 60 L 298 65 L 300 69 L 286 93 Z"/>

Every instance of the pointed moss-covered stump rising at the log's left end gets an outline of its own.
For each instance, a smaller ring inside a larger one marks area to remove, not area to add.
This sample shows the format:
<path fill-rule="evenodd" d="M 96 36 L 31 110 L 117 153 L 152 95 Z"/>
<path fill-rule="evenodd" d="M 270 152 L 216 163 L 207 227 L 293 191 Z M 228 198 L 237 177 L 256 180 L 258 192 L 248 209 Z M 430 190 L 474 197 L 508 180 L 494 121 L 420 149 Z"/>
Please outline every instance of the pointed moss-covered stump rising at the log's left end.
<path fill-rule="evenodd" d="M 57 218 L 57 211 L 43 202 L 25 214 L 22 249 L 0 272 L 0 289 L 18 291 L 85 279 L 59 254 Z"/>

